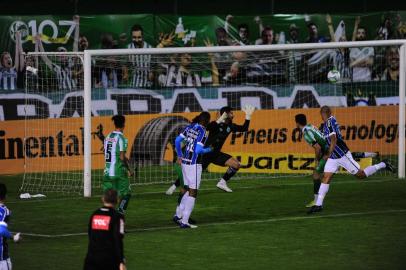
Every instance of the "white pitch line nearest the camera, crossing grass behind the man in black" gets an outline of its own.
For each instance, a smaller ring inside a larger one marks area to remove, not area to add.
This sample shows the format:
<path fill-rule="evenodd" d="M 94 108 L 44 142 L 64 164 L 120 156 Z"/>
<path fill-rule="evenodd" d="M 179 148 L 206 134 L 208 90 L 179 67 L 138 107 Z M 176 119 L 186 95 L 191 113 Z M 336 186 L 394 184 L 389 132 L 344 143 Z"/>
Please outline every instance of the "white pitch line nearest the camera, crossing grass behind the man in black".
<path fill-rule="evenodd" d="M 244 220 L 244 221 L 232 221 L 232 222 L 214 222 L 205 223 L 199 225 L 199 227 L 213 227 L 213 226 L 230 226 L 230 225 L 245 225 L 245 224 L 258 224 L 258 223 L 273 223 L 281 221 L 301 221 L 309 219 L 322 219 L 322 218 L 337 218 L 337 217 L 353 217 L 353 216 L 366 216 L 366 215 L 379 215 L 379 214 L 394 214 L 394 213 L 406 213 L 406 209 L 392 209 L 392 210 L 381 210 L 381 211 L 367 211 L 367 212 L 353 212 L 353 213 L 340 213 L 340 214 L 319 214 L 312 216 L 295 216 L 295 217 L 281 217 L 281 218 L 268 218 L 268 219 L 254 219 L 254 220 Z M 164 230 L 174 230 L 179 229 L 177 226 L 162 226 L 162 227 L 152 227 L 144 229 L 130 229 L 126 230 L 127 233 L 133 232 L 153 232 L 153 231 L 164 231 Z M 21 233 L 23 236 L 33 236 L 40 238 L 62 238 L 71 236 L 83 236 L 87 235 L 85 232 L 81 233 L 66 233 L 66 234 L 36 234 L 36 233 Z"/>

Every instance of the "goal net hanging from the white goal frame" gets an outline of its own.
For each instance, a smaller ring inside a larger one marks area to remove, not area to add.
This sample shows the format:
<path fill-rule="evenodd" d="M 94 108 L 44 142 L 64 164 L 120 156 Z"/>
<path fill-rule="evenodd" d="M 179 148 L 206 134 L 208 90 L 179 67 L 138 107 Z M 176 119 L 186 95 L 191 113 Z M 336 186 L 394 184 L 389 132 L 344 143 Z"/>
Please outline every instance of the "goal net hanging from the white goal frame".
<path fill-rule="evenodd" d="M 83 55 L 29 54 L 35 72 L 27 70 L 22 190 L 81 193 L 87 169 L 98 193 L 103 140 L 114 130 L 115 114 L 126 117 L 131 184 L 170 183 L 177 177 L 174 140 L 180 130 L 201 111 L 216 120 L 224 106 L 232 108 L 233 123 L 243 125 L 248 104 L 256 111 L 247 131 L 231 131 L 221 149 L 241 163 L 233 179 L 310 175 L 314 150 L 295 115 L 305 114 L 320 128 L 324 105 L 332 108 L 362 168 L 382 159 L 397 166 L 401 43 L 335 44 L 94 50 L 86 76 Z M 84 168 L 86 146 L 91 166 Z M 203 180 L 218 180 L 227 170 L 214 163 Z"/>

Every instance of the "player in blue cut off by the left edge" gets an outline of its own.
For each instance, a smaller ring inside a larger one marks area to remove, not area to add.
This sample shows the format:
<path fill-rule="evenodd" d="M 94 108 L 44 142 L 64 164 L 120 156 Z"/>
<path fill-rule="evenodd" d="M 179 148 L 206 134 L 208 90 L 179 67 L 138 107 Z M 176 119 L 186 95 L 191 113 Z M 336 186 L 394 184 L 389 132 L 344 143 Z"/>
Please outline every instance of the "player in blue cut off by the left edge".
<path fill-rule="evenodd" d="M 8 221 L 10 219 L 10 211 L 4 205 L 6 199 L 6 185 L 0 183 L 0 270 L 11 270 L 11 260 L 8 251 L 7 239 L 13 239 L 14 242 L 21 240 L 20 233 L 12 235 L 8 230 Z"/>

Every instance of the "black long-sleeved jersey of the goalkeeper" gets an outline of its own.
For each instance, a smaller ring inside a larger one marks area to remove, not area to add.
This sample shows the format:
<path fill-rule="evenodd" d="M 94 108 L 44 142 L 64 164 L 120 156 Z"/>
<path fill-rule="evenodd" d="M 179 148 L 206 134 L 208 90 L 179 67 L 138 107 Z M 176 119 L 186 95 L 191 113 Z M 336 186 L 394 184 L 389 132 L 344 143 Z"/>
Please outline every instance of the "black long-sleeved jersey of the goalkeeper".
<path fill-rule="evenodd" d="M 217 124 L 216 121 L 211 122 L 206 130 L 209 132 L 209 136 L 206 140 L 205 146 L 210 146 L 213 151 L 220 151 L 224 142 L 227 140 L 228 135 L 231 132 L 246 132 L 250 125 L 250 120 L 245 120 L 243 125 L 237 125 L 234 123 L 221 123 Z"/>

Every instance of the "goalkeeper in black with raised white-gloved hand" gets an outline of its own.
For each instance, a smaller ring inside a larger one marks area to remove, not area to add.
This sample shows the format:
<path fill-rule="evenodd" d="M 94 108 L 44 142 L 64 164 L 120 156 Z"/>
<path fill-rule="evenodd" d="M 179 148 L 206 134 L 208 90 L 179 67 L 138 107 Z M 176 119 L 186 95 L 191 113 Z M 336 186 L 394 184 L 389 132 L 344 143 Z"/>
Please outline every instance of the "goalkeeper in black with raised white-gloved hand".
<path fill-rule="evenodd" d="M 221 152 L 221 148 L 231 132 L 248 131 L 251 116 L 255 111 L 255 107 L 246 105 L 242 110 L 245 112 L 245 122 L 243 125 L 233 123 L 233 109 L 226 106 L 220 109 L 220 118 L 211 122 L 206 128 L 206 130 L 209 132 L 209 136 L 205 145 L 210 146 L 213 149 L 213 152 L 202 156 L 202 167 L 203 170 L 205 170 L 210 163 L 222 167 L 228 166 L 226 173 L 216 185 L 219 189 L 224 190 L 225 192 L 233 192 L 228 187 L 227 182 L 237 173 L 241 165 L 237 159 L 233 158 L 229 154 Z"/>

